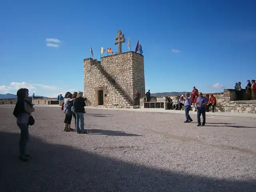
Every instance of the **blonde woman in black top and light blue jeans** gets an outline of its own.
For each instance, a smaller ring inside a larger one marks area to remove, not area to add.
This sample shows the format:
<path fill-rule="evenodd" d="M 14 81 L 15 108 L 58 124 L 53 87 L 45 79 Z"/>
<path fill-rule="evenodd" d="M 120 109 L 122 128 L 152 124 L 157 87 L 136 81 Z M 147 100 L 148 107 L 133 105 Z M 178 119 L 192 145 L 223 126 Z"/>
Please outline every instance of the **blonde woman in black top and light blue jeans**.
<path fill-rule="evenodd" d="M 76 114 L 76 132 L 77 133 L 87 133 L 86 130 L 84 130 L 84 106 L 85 101 L 83 98 L 83 92 L 78 91 L 77 97 L 74 100 L 73 107 L 74 112 Z M 80 121 L 80 128 L 79 128 L 79 121 Z"/>

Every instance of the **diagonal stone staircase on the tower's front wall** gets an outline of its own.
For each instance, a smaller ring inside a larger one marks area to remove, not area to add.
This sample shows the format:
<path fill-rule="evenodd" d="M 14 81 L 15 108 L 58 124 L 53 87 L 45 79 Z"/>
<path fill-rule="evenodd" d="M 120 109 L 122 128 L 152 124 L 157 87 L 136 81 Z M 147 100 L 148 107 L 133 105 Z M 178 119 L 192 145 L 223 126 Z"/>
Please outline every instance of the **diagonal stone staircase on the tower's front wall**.
<path fill-rule="evenodd" d="M 124 91 L 122 90 L 122 88 L 115 82 L 114 78 L 112 78 L 110 76 L 110 74 L 108 74 L 101 66 L 100 64 L 96 64 L 96 67 L 98 68 L 98 70 L 104 75 L 104 77 L 106 78 L 106 80 L 108 80 L 108 82 L 110 82 L 112 84 L 112 86 L 114 87 L 114 90 L 116 91 L 116 93 L 122 98 L 122 100 L 124 101 L 125 106 L 133 106 L 131 100 L 129 99 L 129 97 L 124 93 Z"/>

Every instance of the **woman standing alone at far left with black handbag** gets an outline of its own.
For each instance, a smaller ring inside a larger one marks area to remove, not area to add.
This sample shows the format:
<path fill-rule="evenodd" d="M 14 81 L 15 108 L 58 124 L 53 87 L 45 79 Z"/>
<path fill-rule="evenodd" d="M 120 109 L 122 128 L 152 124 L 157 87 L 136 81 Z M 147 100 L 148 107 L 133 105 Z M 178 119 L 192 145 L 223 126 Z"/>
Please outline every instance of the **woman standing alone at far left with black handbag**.
<path fill-rule="evenodd" d="M 28 89 L 22 88 L 17 91 L 17 103 L 13 115 L 17 118 L 17 125 L 20 128 L 20 157 L 21 161 L 27 161 L 29 154 L 26 154 L 26 144 L 28 142 L 28 126 L 34 124 L 34 118 L 30 115 L 35 111 L 33 104 L 26 100 Z"/>

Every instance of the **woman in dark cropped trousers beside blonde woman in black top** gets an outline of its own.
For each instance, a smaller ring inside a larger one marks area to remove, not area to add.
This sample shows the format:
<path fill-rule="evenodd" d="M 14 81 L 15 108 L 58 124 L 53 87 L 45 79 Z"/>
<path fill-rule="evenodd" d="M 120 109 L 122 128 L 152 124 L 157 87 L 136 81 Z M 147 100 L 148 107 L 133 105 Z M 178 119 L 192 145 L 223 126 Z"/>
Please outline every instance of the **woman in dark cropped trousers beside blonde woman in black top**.
<path fill-rule="evenodd" d="M 63 105 L 63 112 L 65 113 L 65 119 L 64 119 L 64 131 L 74 131 L 74 129 L 71 128 L 71 120 L 72 120 L 72 106 L 73 106 L 74 98 L 72 99 L 72 94 L 70 92 L 66 92 L 64 97 L 64 105 Z"/>

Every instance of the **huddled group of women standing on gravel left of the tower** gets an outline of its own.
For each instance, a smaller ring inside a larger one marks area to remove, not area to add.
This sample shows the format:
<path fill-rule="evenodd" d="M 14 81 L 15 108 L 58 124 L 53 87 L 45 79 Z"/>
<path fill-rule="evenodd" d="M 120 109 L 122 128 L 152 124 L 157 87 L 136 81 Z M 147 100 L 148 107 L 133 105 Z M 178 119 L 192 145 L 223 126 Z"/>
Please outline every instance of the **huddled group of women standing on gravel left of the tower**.
<path fill-rule="evenodd" d="M 75 119 L 76 132 L 78 134 L 85 134 L 87 131 L 84 129 L 84 113 L 86 113 L 85 100 L 83 98 L 83 92 L 66 92 L 64 96 L 64 102 L 62 104 L 62 110 L 65 113 L 64 119 L 64 131 L 74 131 L 71 128 L 72 117 Z M 79 127 L 80 122 L 80 127 Z"/>

